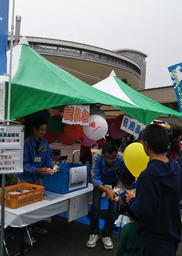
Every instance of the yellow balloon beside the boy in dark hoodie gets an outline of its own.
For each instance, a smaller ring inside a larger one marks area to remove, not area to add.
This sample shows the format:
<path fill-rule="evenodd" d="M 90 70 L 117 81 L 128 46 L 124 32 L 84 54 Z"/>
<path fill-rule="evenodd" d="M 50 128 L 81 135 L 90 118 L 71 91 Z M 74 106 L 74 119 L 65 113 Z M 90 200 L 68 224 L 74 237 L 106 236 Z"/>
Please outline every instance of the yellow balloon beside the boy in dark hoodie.
<path fill-rule="evenodd" d="M 137 142 L 127 146 L 123 158 L 127 169 L 129 169 L 135 178 L 140 176 L 141 172 L 146 169 L 147 163 L 149 162 L 149 157 L 146 155 L 143 145 Z"/>

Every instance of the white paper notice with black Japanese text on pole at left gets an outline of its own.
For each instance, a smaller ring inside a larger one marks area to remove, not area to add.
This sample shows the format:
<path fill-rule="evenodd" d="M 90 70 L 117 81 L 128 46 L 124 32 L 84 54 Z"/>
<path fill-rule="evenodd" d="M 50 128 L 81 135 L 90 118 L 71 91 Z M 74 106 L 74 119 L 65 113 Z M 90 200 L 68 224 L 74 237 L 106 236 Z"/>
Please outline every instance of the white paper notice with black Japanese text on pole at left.
<path fill-rule="evenodd" d="M 0 126 L 0 174 L 23 171 L 24 126 Z"/>

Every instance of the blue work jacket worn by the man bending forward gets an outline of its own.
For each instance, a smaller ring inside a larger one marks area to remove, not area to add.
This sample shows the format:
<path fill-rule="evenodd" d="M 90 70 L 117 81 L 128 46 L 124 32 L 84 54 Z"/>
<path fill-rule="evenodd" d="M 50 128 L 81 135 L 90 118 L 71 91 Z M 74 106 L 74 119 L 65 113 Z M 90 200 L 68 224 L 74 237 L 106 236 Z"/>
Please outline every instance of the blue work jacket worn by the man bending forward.
<path fill-rule="evenodd" d="M 111 166 L 107 165 L 102 151 L 96 152 L 95 155 L 93 155 L 91 168 L 93 186 L 102 184 L 109 185 L 118 182 L 121 169 L 123 169 L 124 166 L 123 154 L 121 154 L 121 152 L 118 152 L 116 160 Z"/>

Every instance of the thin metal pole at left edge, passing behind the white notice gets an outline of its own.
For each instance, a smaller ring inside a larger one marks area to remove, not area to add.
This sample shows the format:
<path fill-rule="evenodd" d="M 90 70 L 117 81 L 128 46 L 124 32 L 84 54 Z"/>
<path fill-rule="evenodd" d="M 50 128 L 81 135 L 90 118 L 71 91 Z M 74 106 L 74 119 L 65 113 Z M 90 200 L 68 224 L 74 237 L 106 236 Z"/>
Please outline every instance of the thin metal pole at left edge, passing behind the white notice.
<path fill-rule="evenodd" d="M 11 44 L 10 44 L 10 70 L 8 82 L 8 103 L 7 103 L 7 125 L 10 124 L 10 100 L 12 87 L 12 57 L 13 57 L 13 30 L 14 30 L 14 16 L 15 16 L 15 0 L 13 0 L 12 7 L 12 26 L 11 26 Z M 4 199 L 5 199 L 5 174 L 2 174 L 2 194 L 1 194 L 1 246 L 0 255 L 4 255 Z"/>

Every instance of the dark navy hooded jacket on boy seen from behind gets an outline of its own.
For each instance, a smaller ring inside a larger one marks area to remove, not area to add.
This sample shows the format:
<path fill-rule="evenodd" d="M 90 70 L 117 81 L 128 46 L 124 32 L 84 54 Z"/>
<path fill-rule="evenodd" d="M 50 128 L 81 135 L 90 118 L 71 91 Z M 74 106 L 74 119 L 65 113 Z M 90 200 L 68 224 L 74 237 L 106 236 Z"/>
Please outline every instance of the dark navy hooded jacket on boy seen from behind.
<path fill-rule="evenodd" d="M 167 163 L 160 160 L 148 163 L 136 182 L 136 197 L 129 201 L 145 243 L 181 241 L 182 170 L 174 159 L 167 157 Z"/>

